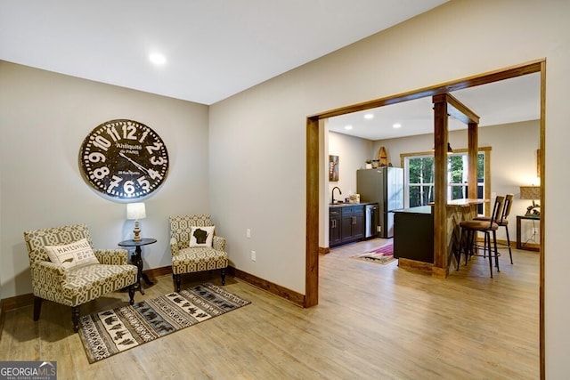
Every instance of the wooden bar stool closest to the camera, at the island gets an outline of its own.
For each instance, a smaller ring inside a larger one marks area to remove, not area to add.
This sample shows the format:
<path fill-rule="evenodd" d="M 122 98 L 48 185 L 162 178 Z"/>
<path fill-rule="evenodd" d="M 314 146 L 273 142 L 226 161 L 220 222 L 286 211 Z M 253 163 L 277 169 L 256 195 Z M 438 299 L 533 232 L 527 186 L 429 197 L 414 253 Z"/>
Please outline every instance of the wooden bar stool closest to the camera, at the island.
<path fill-rule="evenodd" d="M 493 257 L 495 259 L 495 266 L 497 271 L 499 270 L 499 251 L 497 250 L 497 230 L 499 229 L 499 224 L 497 223 L 501 218 L 502 207 L 505 202 L 505 197 L 498 196 L 495 198 L 495 203 L 493 205 L 493 214 L 488 221 L 481 221 L 476 219 L 470 219 L 468 221 L 460 222 L 461 228 L 461 242 L 459 256 L 457 257 L 457 271 L 460 270 L 460 259 L 461 250 L 465 254 L 465 264 L 467 265 L 468 256 L 476 255 L 475 248 L 476 245 L 476 235 L 477 232 L 483 232 L 485 234 L 484 243 L 484 255 L 488 252 L 489 254 L 489 271 L 491 271 L 491 278 L 493 279 Z M 493 248 L 491 247 L 491 234 L 493 233 Z"/>

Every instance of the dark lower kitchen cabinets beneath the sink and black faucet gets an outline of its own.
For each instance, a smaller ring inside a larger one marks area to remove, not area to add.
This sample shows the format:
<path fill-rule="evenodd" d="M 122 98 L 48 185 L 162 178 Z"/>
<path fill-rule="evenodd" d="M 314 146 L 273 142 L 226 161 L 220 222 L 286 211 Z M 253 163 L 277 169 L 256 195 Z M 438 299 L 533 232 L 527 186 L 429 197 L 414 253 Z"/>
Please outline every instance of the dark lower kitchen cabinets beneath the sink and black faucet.
<path fill-rule="evenodd" d="M 330 247 L 364 238 L 364 205 L 330 207 L 329 221 Z"/>

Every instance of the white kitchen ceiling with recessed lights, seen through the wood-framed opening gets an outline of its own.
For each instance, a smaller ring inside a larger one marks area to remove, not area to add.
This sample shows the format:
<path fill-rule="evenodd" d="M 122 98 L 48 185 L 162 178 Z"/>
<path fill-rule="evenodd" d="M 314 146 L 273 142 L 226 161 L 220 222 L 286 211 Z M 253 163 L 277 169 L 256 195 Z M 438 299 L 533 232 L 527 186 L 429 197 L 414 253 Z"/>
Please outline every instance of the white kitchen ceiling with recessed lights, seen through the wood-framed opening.
<path fill-rule="evenodd" d="M 453 92 L 452 95 L 480 117 L 479 126 L 501 125 L 540 118 L 540 85 L 540 73 L 534 73 L 466 88 Z M 330 131 L 371 141 L 433 133 L 432 108 L 431 97 L 421 98 L 330 117 L 328 126 Z M 367 114 L 373 115 L 373 118 L 365 118 Z M 395 124 L 401 126 L 395 128 Z M 351 125 L 352 129 L 346 130 L 346 125 Z M 450 131 L 467 127 L 468 125 L 452 117 L 448 119 Z"/>

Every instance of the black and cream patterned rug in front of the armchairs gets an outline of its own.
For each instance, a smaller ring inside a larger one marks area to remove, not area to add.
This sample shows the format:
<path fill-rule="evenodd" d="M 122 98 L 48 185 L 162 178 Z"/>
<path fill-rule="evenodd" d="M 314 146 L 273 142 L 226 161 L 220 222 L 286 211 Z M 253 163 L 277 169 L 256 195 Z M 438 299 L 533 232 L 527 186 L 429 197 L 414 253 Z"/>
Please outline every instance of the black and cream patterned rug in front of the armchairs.
<path fill-rule="evenodd" d="M 206 283 L 180 293 L 85 315 L 80 318 L 79 337 L 87 360 L 94 363 L 248 303 L 222 287 Z"/>

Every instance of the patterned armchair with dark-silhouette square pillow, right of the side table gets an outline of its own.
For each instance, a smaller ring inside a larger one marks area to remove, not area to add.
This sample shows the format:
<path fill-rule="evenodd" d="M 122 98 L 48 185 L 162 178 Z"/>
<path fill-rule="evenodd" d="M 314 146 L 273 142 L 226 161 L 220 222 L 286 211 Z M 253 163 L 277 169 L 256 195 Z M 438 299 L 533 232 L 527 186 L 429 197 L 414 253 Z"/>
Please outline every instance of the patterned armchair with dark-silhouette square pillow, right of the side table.
<path fill-rule="evenodd" d="M 229 263 L 228 254 L 224 252 L 225 239 L 214 235 L 210 215 L 180 215 L 169 219 L 175 291 L 180 291 L 181 275 L 197 271 L 219 269 L 222 272 L 222 285 L 225 285 L 225 269 Z M 211 239 L 211 243 L 207 239 Z"/>

